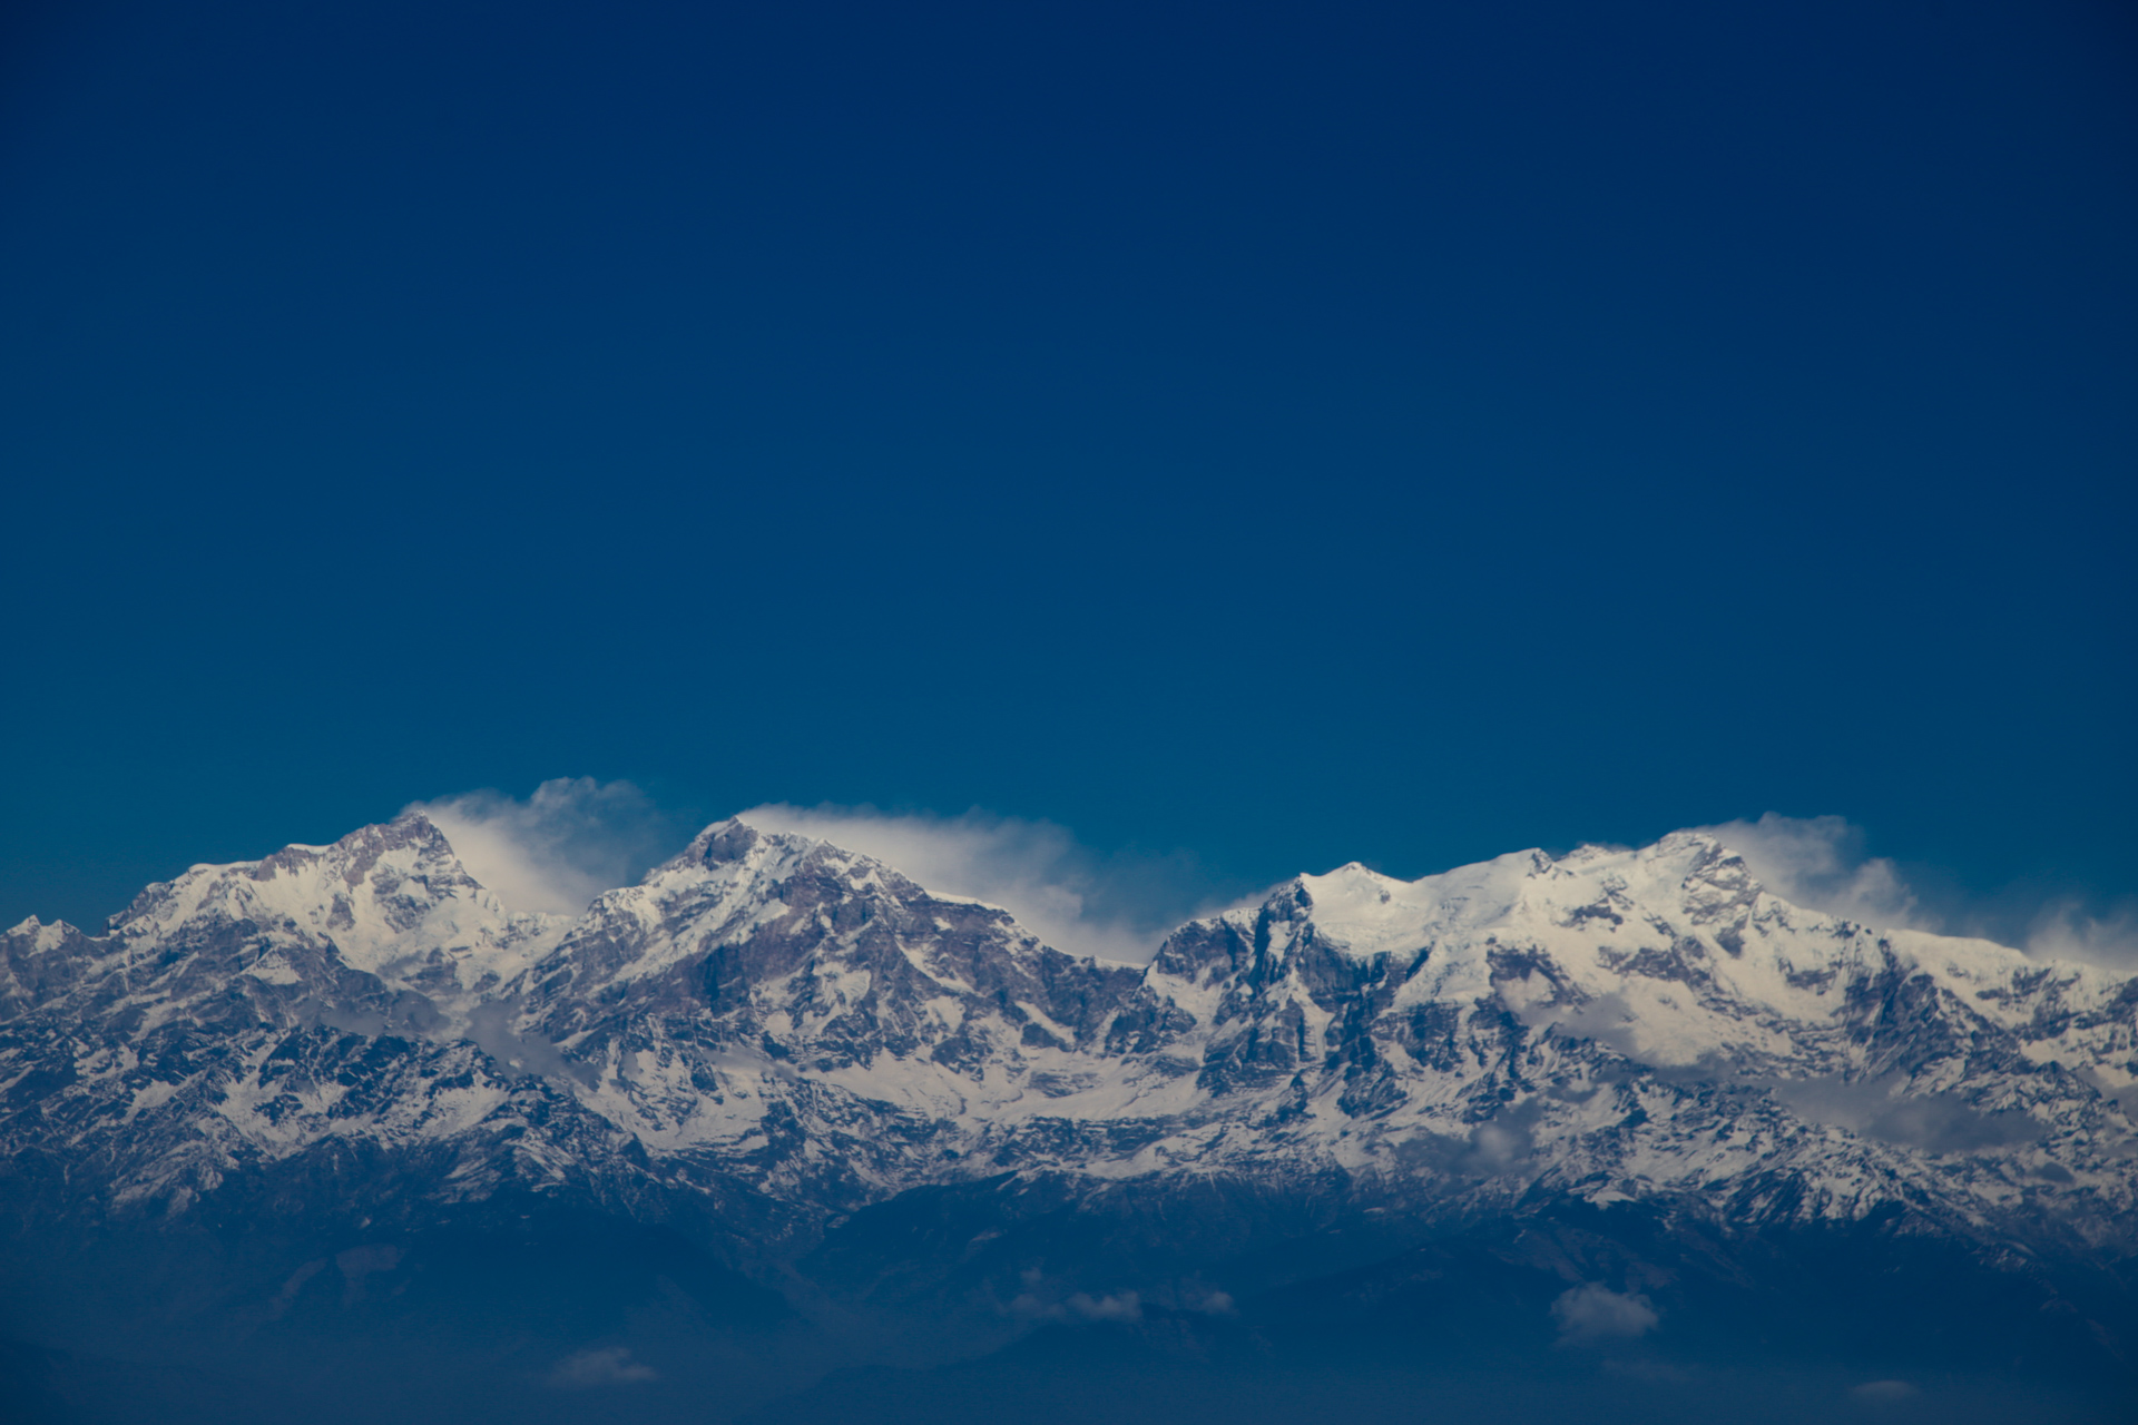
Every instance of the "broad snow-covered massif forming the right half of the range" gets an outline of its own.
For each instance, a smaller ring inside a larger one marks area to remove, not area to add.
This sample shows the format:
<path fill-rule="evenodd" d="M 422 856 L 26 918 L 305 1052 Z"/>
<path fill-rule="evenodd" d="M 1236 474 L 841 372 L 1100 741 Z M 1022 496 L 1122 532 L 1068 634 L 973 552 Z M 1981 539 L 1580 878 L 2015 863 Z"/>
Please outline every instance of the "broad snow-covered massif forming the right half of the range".
<path fill-rule="evenodd" d="M 2016 1235 L 2132 1207 L 2138 987 L 1807 912 L 1706 835 L 1302 876 L 1148 989 L 1202 1087 L 1283 1083 L 1300 1149 L 1362 1175 Z"/>

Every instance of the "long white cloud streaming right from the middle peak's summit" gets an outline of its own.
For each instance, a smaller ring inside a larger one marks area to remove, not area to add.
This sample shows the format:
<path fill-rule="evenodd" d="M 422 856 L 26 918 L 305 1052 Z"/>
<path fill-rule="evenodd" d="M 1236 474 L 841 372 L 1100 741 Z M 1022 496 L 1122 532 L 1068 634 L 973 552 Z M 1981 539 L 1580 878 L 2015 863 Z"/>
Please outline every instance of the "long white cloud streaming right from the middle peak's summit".
<path fill-rule="evenodd" d="M 883 861 L 930 891 L 988 902 L 1058 951 L 1148 961 L 1167 931 L 1210 902 L 1178 861 L 1101 861 L 1050 820 L 971 810 L 894 816 L 874 808 L 780 801 L 742 812 L 763 831 L 812 835 Z"/>

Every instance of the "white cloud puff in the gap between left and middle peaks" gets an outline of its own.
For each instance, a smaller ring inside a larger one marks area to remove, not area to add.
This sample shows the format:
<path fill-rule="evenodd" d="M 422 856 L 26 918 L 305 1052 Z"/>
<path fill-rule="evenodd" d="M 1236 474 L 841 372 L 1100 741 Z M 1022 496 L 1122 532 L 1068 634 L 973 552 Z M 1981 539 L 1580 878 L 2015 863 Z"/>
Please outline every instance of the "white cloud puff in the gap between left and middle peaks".
<path fill-rule="evenodd" d="M 554 778 L 526 801 L 496 790 L 415 801 L 468 874 L 507 910 L 579 914 L 603 891 L 631 884 L 680 840 L 631 782 Z"/>

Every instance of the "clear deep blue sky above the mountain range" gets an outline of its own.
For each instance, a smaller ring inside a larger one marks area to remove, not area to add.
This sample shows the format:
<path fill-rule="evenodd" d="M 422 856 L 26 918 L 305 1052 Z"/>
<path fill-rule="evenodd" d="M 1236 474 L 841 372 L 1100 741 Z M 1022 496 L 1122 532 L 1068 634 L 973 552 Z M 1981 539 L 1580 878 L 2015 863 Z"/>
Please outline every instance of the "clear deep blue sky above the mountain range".
<path fill-rule="evenodd" d="M 579 773 L 2129 897 L 2129 15 L 9 6 L 0 923 Z"/>

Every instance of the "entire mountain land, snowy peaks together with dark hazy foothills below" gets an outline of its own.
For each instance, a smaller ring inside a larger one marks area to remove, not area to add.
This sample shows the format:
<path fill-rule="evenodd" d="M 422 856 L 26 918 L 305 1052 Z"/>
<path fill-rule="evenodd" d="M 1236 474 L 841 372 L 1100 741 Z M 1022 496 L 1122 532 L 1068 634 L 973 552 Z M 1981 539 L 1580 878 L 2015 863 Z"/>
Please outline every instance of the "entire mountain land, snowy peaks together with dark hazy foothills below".
<path fill-rule="evenodd" d="M 2138 981 L 1704 833 L 1148 966 L 725 820 L 421 814 L 0 936 L 4 1389 L 86 1421 L 2134 1419 Z"/>

